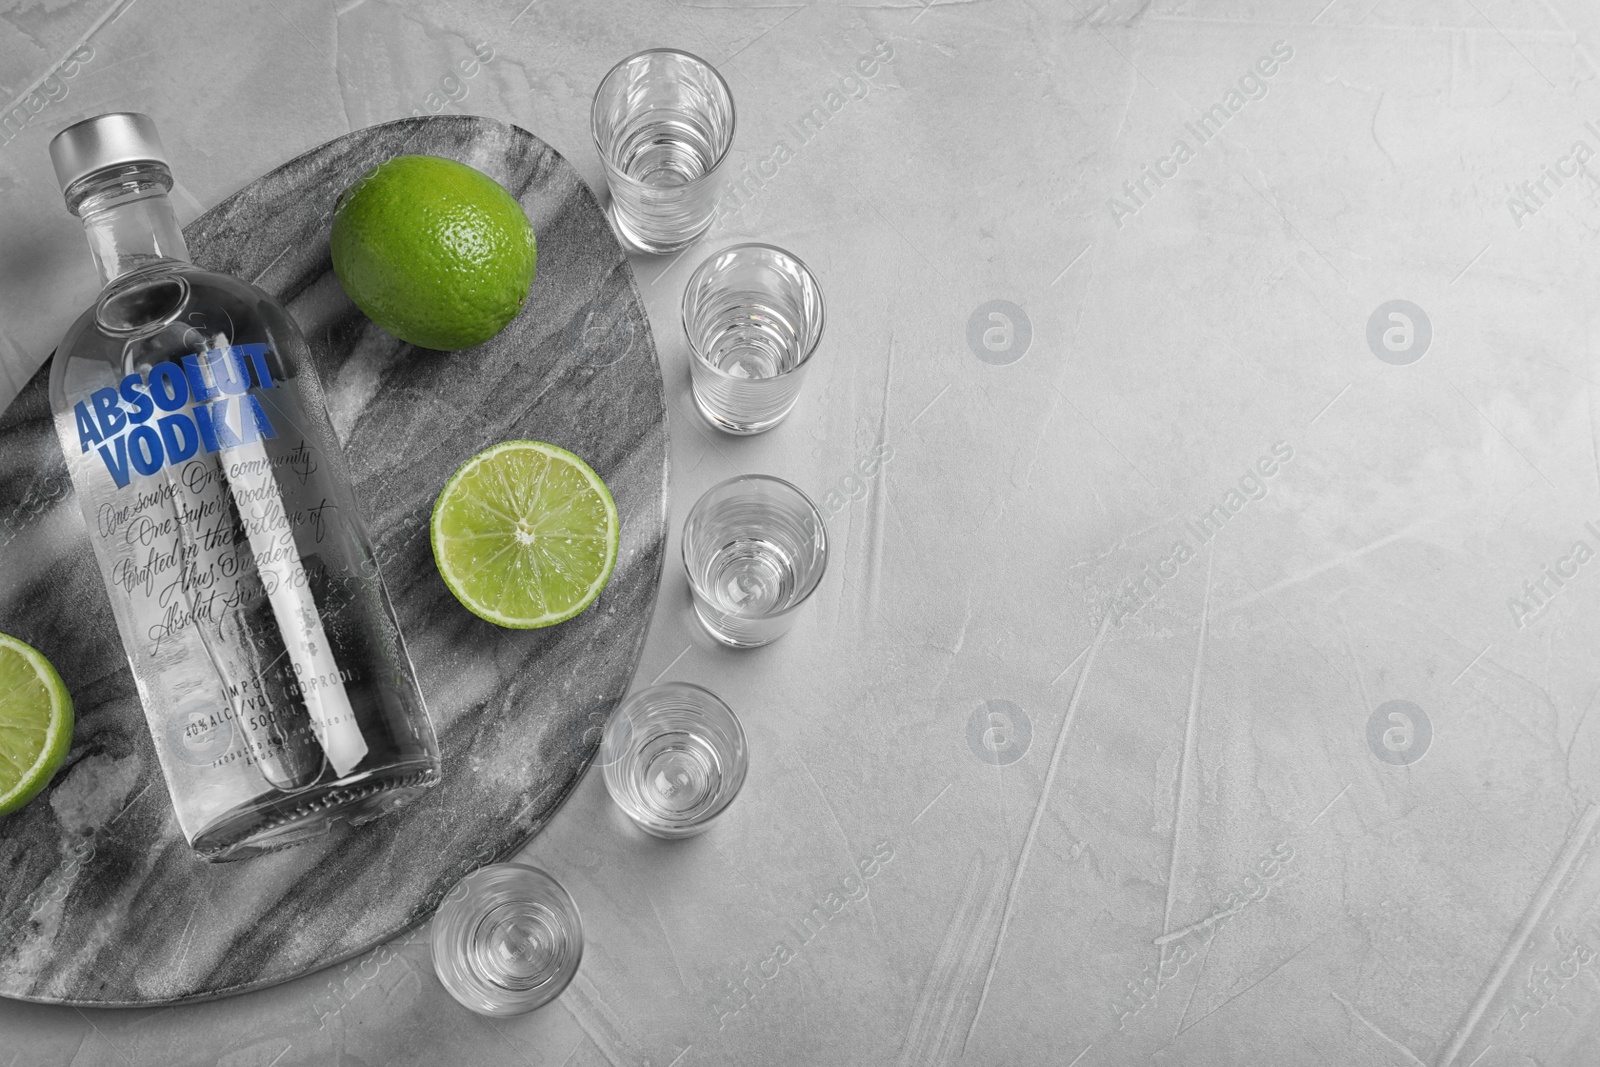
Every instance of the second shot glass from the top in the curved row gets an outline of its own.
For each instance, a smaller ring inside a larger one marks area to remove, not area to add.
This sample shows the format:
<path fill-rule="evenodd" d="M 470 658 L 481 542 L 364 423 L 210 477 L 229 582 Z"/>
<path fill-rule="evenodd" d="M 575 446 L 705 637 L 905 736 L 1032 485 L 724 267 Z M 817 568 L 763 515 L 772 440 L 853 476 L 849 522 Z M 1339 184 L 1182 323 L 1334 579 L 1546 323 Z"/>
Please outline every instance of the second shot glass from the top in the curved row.
<path fill-rule="evenodd" d="M 784 421 L 822 341 L 822 290 L 800 258 L 773 245 L 731 245 L 683 290 L 694 406 L 728 434 Z"/>

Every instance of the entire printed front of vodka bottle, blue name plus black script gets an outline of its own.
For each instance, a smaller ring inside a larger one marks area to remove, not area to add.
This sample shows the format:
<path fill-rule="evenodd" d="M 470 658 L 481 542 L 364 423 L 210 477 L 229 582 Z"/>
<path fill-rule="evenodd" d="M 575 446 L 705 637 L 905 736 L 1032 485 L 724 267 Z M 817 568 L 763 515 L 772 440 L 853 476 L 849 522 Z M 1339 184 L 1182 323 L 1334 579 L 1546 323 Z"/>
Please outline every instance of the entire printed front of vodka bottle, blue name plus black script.
<path fill-rule="evenodd" d="M 346 688 L 360 670 L 336 659 L 315 595 L 339 581 L 339 506 L 302 437 L 299 384 L 275 381 L 269 355 L 174 355 L 78 398 L 61 432 L 94 485 L 86 510 L 130 653 L 171 689 L 160 702 L 182 699 L 157 739 L 176 763 L 243 760 L 298 789 L 323 755 L 344 776 L 368 745 Z"/>

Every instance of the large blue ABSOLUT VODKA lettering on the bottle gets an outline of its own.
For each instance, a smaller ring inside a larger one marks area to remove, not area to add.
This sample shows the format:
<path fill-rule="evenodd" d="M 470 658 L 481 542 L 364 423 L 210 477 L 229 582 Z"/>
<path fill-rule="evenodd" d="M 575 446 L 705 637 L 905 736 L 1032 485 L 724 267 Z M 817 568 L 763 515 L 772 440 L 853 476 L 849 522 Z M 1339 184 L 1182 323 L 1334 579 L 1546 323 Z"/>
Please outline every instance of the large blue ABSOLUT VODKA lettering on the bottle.
<path fill-rule="evenodd" d="M 157 363 L 115 389 L 90 394 L 72 408 L 82 453 L 94 451 L 118 490 L 133 475 L 277 438 L 251 389 L 275 389 L 266 344 L 235 344 Z M 126 406 L 125 406 L 126 405 Z"/>

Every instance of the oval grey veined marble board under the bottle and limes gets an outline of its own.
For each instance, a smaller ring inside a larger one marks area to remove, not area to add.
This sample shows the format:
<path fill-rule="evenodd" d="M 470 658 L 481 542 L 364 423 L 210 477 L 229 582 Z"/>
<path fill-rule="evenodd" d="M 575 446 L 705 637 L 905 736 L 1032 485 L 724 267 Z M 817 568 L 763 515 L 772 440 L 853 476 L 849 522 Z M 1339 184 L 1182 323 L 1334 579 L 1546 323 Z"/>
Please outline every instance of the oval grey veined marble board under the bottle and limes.
<path fill-rule="evenodd" d="M 333 277 L 338 194 L 403 152 L 477 166 L 533 219 L 528 306 L 478 349 L 402 344 Z M 186 235 L 195 262 L 275 293 L 310 341 L 445 781 L 398 814 L 283 853 L 216 865 L 190 854 L 51 429 L 46 363 L 0 418 L 0 630 L 51 657 L 78 721 L 50 790 L 0 819 L 5 997 L 206 1000 L 283 982 L 422 921 L 461 875 L 534 835 L 576 785 L 629 686 L 661 577 L 667 430 L 650 323 L 600 206 L 554 149 L 486 118 L 371 126 L 261 178 Z M 450 472 L 515 437 L 587 459 L 622 517 L 611 584 L 547 630 L 469 614 L 427 542 Z"/>

